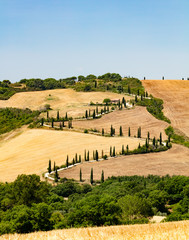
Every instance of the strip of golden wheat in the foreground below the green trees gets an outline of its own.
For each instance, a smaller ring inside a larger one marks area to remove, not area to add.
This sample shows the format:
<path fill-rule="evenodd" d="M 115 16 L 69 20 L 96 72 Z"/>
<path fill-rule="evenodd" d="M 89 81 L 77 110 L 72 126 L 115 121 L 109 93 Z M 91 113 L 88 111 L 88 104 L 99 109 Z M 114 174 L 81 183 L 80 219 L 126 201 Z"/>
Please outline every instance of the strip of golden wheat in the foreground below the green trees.
<path fill-rule="evenodd" d="M 189 221 L 4 235 L 4 240 L 188 240 Z"/>

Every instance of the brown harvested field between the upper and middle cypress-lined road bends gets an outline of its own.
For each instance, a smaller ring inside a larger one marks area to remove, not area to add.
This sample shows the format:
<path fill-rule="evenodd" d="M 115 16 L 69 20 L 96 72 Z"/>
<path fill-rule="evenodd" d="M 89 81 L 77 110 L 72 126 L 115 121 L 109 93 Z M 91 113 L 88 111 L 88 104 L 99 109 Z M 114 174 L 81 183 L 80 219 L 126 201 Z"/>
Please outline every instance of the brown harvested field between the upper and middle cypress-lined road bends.
<path fill-rule="evenodd" d="M 74 128 L 96 128 L 99 131 L 104 128 L 107 133 L 110 133 L 111 125 L 115 128 L 116 134 L 119 134 L 119 127 L 122 126 L 125 136 L 128 136 L 128 127 L 131 128 L 131 136 L 137 136 L 137 130 L 141 127 L 142 137 L 145 138 L 150 132 L 151 138 L 154 136 L 159 138 L 160 132 L 162 132 L 163 139 L 167 139 L 164 129 L 169 126 L 168 123 L 154 118 L 145 107 L 138 106 L 134 109 L 114 111 L 100 119 L 73 121 Z"/>

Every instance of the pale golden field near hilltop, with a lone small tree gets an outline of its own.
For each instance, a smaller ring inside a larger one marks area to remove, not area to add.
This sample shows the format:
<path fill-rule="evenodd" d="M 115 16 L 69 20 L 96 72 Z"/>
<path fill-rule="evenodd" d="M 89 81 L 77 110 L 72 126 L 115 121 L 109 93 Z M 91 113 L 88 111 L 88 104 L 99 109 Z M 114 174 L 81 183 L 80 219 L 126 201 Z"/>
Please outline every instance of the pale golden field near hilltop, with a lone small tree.
<path fill-rule="evenodd" d="M 88 104 L 91 101 L 102 103 L 105 98 L 122 99 L 123 97 L 126 100 L 133 98 L 112 92 L 76 92 L 73 89 L 55 89 L 16 93 L 8 100 L 0 100 L 0 108 L 17 107 L 38 110 L 45 104 L 50 104 L 51 108 L 55 110 L 51 111 L 51 116 L 56 116 L 56 111 L 60 110 L 61 116 L 67 112 L 70 117 L 76 117 L 84 115 L 85 110 L 89 109 Z"/>

